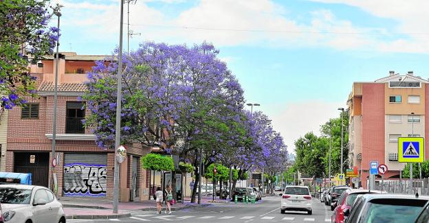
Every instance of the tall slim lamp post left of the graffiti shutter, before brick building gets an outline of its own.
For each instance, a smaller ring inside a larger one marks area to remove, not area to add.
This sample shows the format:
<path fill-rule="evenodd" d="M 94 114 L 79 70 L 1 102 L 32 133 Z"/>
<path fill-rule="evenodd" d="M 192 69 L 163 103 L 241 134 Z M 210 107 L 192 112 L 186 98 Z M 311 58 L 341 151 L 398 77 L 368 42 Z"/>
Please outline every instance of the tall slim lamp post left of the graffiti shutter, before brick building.
<path fill-rule="evenodd" d="M 55 139 L 56 139 L 56 107 L 57 107 L 57 103 L 58 103 L 58 62 L 59 62 L 59 53 L 58 53 L 58 47 L 60 46 L 60 17 L 61 17 L 61 12 L 60 12 L 60 6 L 56 5 L 56 8 L 54 8 L 54 14 L 56 16 L 58 16 L 58 24 L 57 24 L 57 28 L 58 28 L 58 40 L 56 40 L 56 55 L 55 55 L 55 86 L 54 86 L 54 117 L 52 120 L 52 161 L 54 161 L 55 159 Z M 55 167 L 54 165 L 51 164 L 51 168 L 52 168 L 52 178 L 51 178 L 51 189 L 52 191 L 54 190 L 54 174 L 55 174 Z"/>

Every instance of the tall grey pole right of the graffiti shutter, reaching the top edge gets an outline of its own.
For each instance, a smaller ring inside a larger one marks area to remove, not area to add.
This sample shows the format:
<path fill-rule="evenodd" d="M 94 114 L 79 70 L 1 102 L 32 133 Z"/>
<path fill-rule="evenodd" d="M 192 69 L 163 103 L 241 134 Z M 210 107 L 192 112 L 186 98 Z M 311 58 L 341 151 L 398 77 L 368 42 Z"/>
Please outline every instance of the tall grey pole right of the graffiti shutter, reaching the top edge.
<path fill-rule="evenodd" d="M 122 32 L 124 22 L 124 1 L 120 1 L 120 29 L 119 29 L 119 52 L 118 52 L 118 89 L 116 96 L 116 128 L 115 128 L 115 170 L 113 176 L 113 213 L 118 213 L 119 202 L 119 163 L 116 160 L 116 149 L 120 146 L 120 119 L 122 99 Z"/>

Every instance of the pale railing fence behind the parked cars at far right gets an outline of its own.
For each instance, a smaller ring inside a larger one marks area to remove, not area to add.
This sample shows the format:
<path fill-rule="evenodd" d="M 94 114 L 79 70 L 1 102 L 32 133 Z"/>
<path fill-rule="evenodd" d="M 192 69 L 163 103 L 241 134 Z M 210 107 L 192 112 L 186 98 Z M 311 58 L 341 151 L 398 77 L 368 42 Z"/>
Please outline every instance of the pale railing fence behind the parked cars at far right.
<path fill-rule="evenodd" d="M 386 191 L 387 193 L 410 193 L 410 180 L 375 180 L 375 189 Z M 412 179 L 412 193 L 429 196 L 429 178 Z"/>

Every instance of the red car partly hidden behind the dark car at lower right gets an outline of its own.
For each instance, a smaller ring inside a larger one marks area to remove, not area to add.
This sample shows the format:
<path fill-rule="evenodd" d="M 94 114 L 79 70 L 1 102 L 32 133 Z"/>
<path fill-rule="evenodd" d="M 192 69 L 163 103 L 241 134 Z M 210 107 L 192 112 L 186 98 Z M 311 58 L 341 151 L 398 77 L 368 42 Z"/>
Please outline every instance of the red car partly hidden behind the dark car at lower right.
<path fill-rule="evenodd" d="M 356 198 L 360 194 L 365 193 L 381 193 L 380 191 L 369 191 L 367 189 L 347 189 L 342 193 L 340 198 L 338 198 L 338 202 L 334 204 L 336 208 L 333 210 L 331 216 L 332 223 L 344 223 L 344 211 L 351 209 L 353 202 L 355 202 Z"/>

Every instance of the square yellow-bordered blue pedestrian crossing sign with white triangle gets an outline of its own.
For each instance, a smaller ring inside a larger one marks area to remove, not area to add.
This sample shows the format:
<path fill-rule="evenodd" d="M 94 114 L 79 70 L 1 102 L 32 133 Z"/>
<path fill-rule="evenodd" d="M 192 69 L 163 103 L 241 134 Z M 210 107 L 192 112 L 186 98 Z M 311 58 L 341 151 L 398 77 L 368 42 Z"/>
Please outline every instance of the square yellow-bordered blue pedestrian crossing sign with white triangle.
<path fill-rule="evenodd" d="M 424 161 L 423 137 L 399 137 L 398 149 L 400 163 L 422 163 Z"/>

